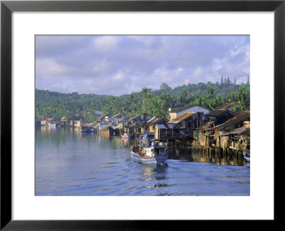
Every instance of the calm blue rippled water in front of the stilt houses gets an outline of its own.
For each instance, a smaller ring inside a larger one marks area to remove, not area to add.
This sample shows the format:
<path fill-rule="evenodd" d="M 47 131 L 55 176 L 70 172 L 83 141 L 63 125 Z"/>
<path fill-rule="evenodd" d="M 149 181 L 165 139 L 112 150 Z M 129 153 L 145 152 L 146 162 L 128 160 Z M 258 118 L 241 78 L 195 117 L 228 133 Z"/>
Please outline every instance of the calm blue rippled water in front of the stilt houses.
<path fill-rule="evenodd" d="M 36 128 L 36 195 L 249 195 L 249 165 L 140 164 L 131 142 Z"/>

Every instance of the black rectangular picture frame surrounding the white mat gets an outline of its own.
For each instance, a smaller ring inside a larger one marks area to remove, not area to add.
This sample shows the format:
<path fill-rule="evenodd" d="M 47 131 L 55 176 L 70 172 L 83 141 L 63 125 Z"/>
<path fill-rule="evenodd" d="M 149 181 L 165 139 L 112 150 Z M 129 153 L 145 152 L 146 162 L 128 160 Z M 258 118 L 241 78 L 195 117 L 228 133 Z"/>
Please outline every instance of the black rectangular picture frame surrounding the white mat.
<path fill-rule="evenodd" d="M 162 230 L 170 222 L 180 222 L 180 227 L 187 225 L 185 220 L 152 220 L 151 225 L 144 220 L 11 220 L 11 14 L 14 11 L 274 11 L 274 221 L 283 218 L 279 211 L 284 197 L 278 188 L 284 182 L 285 162 L 285 0 L 1 1 L 1 230 Z"/>

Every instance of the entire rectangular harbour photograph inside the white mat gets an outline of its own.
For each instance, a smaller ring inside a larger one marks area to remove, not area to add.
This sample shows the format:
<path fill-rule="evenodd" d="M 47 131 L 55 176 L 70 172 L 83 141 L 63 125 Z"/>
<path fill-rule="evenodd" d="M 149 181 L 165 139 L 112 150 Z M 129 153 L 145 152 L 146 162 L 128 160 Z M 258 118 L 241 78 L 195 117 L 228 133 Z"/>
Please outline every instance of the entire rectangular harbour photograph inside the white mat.
<path fill-rule="evenodd" d="M 36 195 L 250 195 L 250 36 L 35 41 Z"/>

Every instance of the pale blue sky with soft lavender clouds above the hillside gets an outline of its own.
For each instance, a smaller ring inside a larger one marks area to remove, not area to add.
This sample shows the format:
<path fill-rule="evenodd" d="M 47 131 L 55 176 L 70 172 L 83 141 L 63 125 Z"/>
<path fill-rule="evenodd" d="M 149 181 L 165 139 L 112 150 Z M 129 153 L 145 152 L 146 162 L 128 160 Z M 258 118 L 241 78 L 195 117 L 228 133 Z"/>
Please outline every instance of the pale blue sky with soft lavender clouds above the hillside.
<path fill-rule="evenodd" d="M 147 87 L 247 83 L 249 36 L 36 36 L 36 88 L 120 96 Z M 250 78 L 250 77 L 249 77 Z"/>

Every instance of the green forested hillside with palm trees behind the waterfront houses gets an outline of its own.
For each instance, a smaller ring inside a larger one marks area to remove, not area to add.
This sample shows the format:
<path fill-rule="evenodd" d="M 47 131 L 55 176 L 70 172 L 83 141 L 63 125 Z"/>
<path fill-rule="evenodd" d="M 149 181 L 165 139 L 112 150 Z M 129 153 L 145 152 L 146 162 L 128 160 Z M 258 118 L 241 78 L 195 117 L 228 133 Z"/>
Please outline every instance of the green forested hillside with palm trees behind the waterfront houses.
<path fill-rule="evenodd" d="M 36 119 L 78 114 L 89 122 L 95 120 L 95 111 L 113 116 L 123 113 L 128 116 L 149 113 L 152 116 L 166 117 L 170 107 L 182 108 L 197 104 L 213 110 L 222 103 L 236 102 L 236 113 L 249 110 L 249 83 L 237 85 L 229 78 L 220 83 L 197 83 L 170 88 L 162 83 L 159 90 L 142 88 L 123 96 L 101 96 L 95 94 L 58 93 L 36 89 Z"/>

